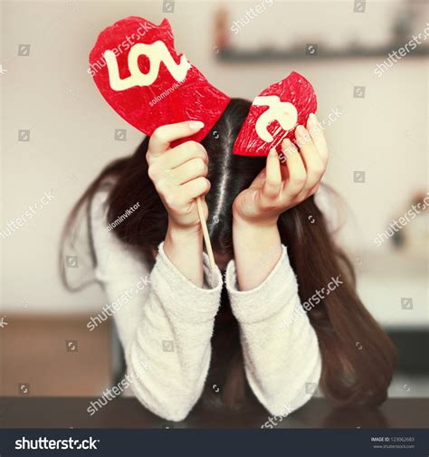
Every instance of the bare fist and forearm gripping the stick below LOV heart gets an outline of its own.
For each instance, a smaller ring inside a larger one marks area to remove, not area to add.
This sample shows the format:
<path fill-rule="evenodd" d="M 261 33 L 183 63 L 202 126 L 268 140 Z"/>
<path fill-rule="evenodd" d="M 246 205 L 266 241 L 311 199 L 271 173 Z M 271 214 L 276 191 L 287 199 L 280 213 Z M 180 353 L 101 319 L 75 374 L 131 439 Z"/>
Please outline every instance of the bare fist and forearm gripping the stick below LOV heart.
<path fill-rule="evenodd" d="M 207 175 L 208 156 L 195 141 L 186 141 L 176 148 L 170 144 L 194 135 L 203 122 L 186 121 L 161 126 L 148 144 L 148 176 L 168 214 L 165 252 L 186 278 L 196 286 L 203 285 L 203 236 L 195 199 L 210 189 Z M 203 199 L 207 217 L 207 205 Z"/>

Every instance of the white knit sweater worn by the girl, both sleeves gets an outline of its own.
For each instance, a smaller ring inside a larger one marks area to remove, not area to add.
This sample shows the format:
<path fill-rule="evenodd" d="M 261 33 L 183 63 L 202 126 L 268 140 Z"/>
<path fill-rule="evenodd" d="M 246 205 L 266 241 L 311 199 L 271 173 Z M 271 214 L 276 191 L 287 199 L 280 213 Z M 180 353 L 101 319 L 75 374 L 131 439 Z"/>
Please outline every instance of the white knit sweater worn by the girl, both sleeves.
<path fill-rule="evenodd" d="M 196 287 L 169 261 L 163 243 L 150 271 L 137 252 L 107 229 L 107 195 L 98 192 L 91 205 L 96 277 L 110 302 L 116 302 L 112 313 L 130 386 L 150 411 L 180 421 L 203 391 L 222 274 L 217 268 L 210 272 L 204 254 L 205 288 Z M 321 371 L 318 339 L 307 315 L 288 328 L 283 325 L 300 307 L 286 248 L 282 246 L 280 261 L 256 289 L 238 290 L 234 261 L 225 281 L 240 326 L 249 385 L 271 414 L 285 416 L 310 399 Z"/>

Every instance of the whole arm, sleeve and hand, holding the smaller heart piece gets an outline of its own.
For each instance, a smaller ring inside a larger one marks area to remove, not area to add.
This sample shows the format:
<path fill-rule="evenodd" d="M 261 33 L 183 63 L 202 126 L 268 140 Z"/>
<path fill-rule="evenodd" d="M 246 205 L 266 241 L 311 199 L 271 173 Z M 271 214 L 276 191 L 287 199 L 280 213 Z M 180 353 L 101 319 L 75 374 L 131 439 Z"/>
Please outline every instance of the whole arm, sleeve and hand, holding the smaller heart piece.
<path fill-rule="evenodd" d="M 303 405 L 319 382 L 321 361 L 316 333 L 302 312 L 298 285 L 281 245 L 281 213 L 314 194 L 328 150 L 310 115 L 296 129 L 300 148 L 283 141 L 272 150 L 252 186 L 234 201 L 234 262 L 226 274 L 231 307 L 241 326 L 245 370 L 254 394 L 272 414 Z M 285 323 L 293 320 L 293 325 Z"/>

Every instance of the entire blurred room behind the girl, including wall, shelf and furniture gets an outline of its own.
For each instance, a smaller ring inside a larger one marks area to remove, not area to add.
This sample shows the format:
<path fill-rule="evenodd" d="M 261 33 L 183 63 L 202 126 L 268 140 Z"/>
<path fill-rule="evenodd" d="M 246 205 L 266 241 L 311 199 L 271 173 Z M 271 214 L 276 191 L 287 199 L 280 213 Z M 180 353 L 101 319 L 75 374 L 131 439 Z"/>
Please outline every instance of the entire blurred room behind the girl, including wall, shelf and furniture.
<path fill-rule="evenodd" d="M 291 71 L 311 81 L 329 139 L 324 180 L 344 201 L 333 221 L 338 243 L 400 354 L 389 395 L 429 396 L 426 2 L 1 6 L 0 395 L 95 396 L 118 374 L 111 322 L 86 328 L 106 304 L 100 286 L 64 290 L 57 257 L 71 206 L 142 139 L 87 71 L 98 33 L 137 15 L 155 24 L 167 17 L 176 50 L 230 96 L 252 100 Z M 23 216 L 31 208 L 31 219 Z M 88 259 L 66 254 L 67 270 L 84 278 Z"/>

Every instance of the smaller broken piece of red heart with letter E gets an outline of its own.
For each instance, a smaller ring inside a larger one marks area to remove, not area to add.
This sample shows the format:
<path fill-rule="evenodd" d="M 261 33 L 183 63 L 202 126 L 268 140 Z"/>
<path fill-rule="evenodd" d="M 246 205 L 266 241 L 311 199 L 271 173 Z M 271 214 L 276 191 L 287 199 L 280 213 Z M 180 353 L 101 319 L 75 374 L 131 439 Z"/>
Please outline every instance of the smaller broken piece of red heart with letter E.
<path fill-rule="evenodd" d="M 316 112 L 317 99 L 310 82 L 295 71 L 272 84 L 253 100 L 249 115 L 234 144 L 239 156 L 267 156 L 271 148 L 281 152 L 284 138 L 295 138 L 295 129 L 306 125 Z"/>

